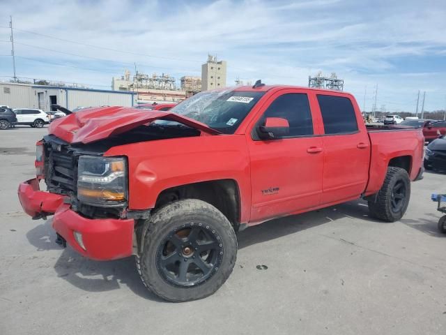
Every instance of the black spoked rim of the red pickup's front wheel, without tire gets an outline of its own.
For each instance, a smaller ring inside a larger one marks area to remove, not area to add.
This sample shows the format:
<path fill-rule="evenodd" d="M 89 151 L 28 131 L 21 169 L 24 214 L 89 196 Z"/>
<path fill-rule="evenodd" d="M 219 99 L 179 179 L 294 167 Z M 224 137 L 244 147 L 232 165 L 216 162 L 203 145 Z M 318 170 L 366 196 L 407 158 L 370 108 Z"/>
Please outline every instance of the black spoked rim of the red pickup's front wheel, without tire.
<path fill-rule="evenodd" d="M 171 231 L 157 249 L 157 270 L 179 287 L 200 285 L 220 267 L 223 244 L 215 230 L 203 223 L 187 223 Z"/>

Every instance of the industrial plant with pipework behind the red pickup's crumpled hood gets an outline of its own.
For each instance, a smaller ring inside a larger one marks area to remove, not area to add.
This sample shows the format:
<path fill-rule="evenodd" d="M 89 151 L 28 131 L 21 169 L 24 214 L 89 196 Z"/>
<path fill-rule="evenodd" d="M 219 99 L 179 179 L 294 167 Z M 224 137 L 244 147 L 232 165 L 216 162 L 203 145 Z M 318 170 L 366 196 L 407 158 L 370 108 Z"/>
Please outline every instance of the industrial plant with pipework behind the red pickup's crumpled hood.
<path fill-rule="evenodd" d="M 112 78 L 114 91 L 132 92 L 137 103 L 154 103 L 160 101 L 180 102 L 186 98 L 186 92 L 176 89 L 175 78 L 162 74 L 146 75 L 135 73 L 131 76 L 129 70 L 125 70 L 120 78 Z"/>

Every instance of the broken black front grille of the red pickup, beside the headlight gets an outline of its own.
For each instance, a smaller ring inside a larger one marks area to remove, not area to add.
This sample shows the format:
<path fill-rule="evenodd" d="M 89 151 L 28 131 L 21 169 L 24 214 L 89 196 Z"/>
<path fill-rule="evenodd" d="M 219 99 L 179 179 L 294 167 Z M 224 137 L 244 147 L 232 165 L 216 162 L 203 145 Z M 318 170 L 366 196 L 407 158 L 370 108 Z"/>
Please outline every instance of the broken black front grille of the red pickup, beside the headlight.
<path fill-rule="evenodd" d="M 76 193 L 77 156 L 66 145 L 45 144 L 45 181 L 50 192 Z"/>

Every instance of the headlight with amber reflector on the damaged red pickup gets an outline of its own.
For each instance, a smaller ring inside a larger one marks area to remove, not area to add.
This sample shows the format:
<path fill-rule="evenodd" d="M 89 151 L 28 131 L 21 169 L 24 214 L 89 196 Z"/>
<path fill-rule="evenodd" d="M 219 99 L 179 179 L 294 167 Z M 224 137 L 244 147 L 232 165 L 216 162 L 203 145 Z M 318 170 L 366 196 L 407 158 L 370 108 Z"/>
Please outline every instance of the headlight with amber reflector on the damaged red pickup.
<path fill-rule="evenodd" d="M 77 198 L 81 202 L 112 207 L 127 202 L 127 195 L 127 161 L 124 157 L 79 157 Z"/>

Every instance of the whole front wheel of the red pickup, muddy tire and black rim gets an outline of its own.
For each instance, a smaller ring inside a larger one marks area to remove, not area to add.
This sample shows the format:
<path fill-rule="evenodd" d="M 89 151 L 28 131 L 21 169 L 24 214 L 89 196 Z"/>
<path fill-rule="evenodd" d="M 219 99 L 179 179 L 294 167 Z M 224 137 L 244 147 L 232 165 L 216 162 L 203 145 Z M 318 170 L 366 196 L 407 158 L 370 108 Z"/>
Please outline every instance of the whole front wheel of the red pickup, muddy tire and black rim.
<path fill-rule="evenodd" d="M 221 211 L 196 199 L 158 210 L 147 223 L 137 267 L 146 287 L 168 301 L 212 295 L 236 263 L 237 239 Z"/>

